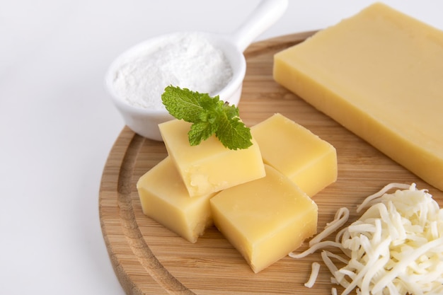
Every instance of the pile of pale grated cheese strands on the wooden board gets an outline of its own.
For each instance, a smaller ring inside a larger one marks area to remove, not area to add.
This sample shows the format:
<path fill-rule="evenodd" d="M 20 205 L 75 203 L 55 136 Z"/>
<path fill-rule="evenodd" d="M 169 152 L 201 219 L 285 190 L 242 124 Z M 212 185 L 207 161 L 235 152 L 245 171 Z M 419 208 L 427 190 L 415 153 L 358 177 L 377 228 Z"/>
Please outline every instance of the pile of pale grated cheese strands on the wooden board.
<path fill-rule="evenodd" d="M 396 191 L 388 194 L 391 189 Z M 349 210 L 341 208 L 308 250 L 289 256 L 303 258 L 321 248 L 340 248 L 343 255 L 322 250 L 321 257 L 331 282 L 344 288 L 343 295 L 354 289 L 358 295 L 443 294 L 443 209 L 432 195 L 414 183 L 391 183 L 367 197 L 357 212 L 367 207 L 357 221 L 338 231 L 335 241 L 323 241 L 349 218 Z M 306 287 L 313 287 L 318 272 L 313 265 Z M 337 294 L 337 289 L 331 293 Z"/>

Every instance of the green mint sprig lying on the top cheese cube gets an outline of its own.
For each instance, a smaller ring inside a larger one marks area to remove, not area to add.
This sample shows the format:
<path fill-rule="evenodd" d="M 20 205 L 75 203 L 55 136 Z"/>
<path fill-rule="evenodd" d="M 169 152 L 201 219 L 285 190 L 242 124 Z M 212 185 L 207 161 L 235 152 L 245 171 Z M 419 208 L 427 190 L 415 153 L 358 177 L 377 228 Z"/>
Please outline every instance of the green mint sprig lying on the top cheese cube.
<path fill-rule="evenodd" d="M 167 86 L 161 95 L 166 110 L 179 120 L 192 123 L 189 143 L 196 146 L 215 134 L 228 149 L 247 149 L 252 145 L 251 130 L 241 122 L 238 108 L 207 93 Z"/>

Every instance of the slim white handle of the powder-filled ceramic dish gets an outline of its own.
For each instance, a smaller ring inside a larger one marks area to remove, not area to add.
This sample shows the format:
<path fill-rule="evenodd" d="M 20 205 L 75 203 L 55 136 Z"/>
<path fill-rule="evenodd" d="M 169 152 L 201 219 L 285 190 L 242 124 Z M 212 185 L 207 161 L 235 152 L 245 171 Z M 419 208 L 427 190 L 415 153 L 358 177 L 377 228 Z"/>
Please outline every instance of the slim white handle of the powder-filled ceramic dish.
<path fill-rule="evenodd" d="M 246 47 L 253 42 L 255 37 L 263 33 L 286 11 L 287 0 L 263 0 L 253 12 L 246 18 L 234 33 L 231 33 L 230 39 L 237 46 L 238 50 L 243 52 Z"/>

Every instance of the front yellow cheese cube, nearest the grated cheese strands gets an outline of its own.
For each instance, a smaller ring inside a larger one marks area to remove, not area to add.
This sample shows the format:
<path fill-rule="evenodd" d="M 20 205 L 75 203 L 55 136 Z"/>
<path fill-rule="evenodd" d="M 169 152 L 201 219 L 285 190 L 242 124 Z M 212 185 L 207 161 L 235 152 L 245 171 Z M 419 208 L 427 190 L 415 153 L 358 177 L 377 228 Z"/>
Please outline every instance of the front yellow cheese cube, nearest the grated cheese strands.
<path fill-rule="evenodd" d="M 265 165 L 266 176 L 212 197 L 217 229 L 257 273 L 297 249 L 317 231 L 317 205 L 282 173 Z"/>

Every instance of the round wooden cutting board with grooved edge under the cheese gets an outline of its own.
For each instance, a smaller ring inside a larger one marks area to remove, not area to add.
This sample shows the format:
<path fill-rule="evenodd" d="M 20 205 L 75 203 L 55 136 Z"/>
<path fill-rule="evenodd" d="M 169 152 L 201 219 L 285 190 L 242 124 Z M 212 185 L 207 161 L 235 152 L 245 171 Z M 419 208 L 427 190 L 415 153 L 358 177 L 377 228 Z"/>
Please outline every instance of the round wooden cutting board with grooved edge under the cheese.
<path fill-rule="evenodd" d="M 337 122 L 311 107 L 272 79 L 272 56 L 314 32 L 257 42 L 246 50 L 248 69 L 238 108 L 248 126 L 275 112 L 298 122 L 337 149 L 338 180 L 313 197 L 321 231 L 340 207 L 350 221 L 364 197 L 392 182 L 417 183 L 443 204 L 443 192 L 391 161 Z M 100 222 L 110 260 L 127 294 L 330 294 L 330 274 L 322 265 L 312 289 L 304 287 L 314 253 L 286 257 L 258 274 L 215 228 L 192 244 L 142 213 L 136 183 L 166 157 L 162 142 L 151 141 L 125 127 L 110 151 L 100 185 Z M 300 250 L 306 249 L 306 245 Z M 339 289 L 340 291 L 340 289 Z"/>

